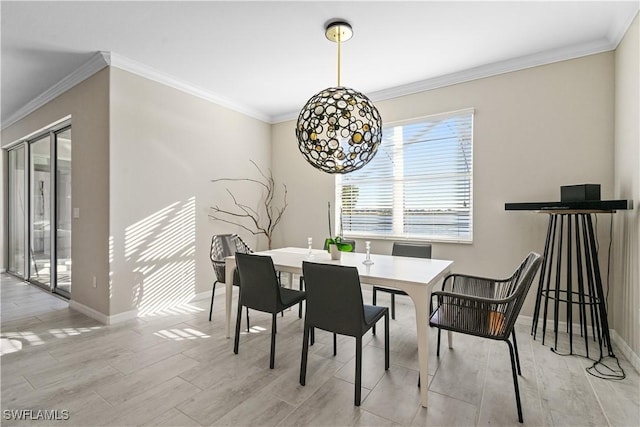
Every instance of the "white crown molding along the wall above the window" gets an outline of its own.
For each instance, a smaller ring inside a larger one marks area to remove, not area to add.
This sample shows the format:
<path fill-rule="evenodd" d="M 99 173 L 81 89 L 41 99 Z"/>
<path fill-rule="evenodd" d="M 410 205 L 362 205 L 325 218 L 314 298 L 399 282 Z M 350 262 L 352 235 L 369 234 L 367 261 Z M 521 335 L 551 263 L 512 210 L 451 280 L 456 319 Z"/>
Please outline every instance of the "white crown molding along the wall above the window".
<path fill-rule="evenodd" d="M 420 80 L 406 85 L 395 86 L 389 89 L 383 89 L 370 92 L 367 96 L 372 101 L 384 101 L 387 99 L 398 98 L 401 96 L 413 95 L 428 90 L 438 89 L 459 83 L 465 83 L 472 80 L 483 79 L 486 77 L 497 76 L 500 74 L 520 71 L 527 68 L 537 67 L 540 65 L 552 64 L 555 62 L 567 61 L 570 59 L 580 58 L 583 56 L 594 55 L 597 53 L 607 52 L 615 49 L 617 43 L 607 39 L 601 39 L 594 42 L 573 45 L 561 49 L 540 52 L 533 55 L 522 56 L 519 58 L 509 59 L 506 61 L 494 62 L 492 64 L 482 65 L 457 73 L 446 74 L 443 76 L 433 77 L 430 79 Z M 288 120 L 294 120 L 298 117 L 298 112 L 289 112 L 271 117 L 271 123 L 280 123 Z"/>

